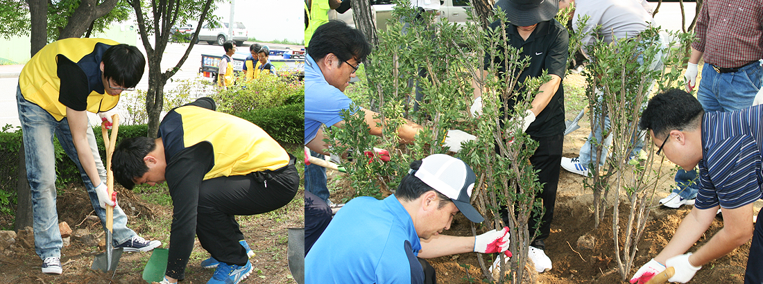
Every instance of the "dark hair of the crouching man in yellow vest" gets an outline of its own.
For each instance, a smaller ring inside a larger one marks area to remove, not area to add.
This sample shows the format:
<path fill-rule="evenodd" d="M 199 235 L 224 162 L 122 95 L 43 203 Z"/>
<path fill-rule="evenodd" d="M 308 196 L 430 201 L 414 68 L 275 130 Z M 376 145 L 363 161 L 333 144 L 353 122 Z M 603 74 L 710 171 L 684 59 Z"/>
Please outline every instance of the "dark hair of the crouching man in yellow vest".
<path fill-rule="evenodd" d="M 148 137 L 133 137 L 119 142 L 111 156 L 111 171 L 122 187 L 132 190 L 135 178 L 143 177 L 148 167 L 143 158 L 156 149 L 156 141 Z"/>

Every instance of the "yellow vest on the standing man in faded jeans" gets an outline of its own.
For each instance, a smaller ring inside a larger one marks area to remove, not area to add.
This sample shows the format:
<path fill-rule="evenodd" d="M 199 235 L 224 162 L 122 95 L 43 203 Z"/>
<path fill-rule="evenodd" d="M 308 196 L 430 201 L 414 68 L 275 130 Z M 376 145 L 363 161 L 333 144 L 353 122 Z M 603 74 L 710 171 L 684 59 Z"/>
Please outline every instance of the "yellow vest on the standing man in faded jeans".
<path fill-rule="evenodd" d="M 79 62 L 82 57 L 93 53 L 96 43 L 105 43 L 107 45 L 117 45 L 118 42 L 106 39 L 93 38 L 68 38 L 57 40 L 40 49 L 32 59 L 21 69 L 21 75 L 18 77 L 18 85 L 21 88 L 21 94 L 27 101 L 47 110 L 57 121 L 66 117 L 66 106 L 58 101 L 61 87 L 61 79 L 58 78 L 56 71 L 56 56 L 66 56 L 72 62 Z M 119 96 L 110 94 L 100 94 L 92 91 L 88 95 L 87 110 L 91 113 L 111 110 L 117 106 Z"/>

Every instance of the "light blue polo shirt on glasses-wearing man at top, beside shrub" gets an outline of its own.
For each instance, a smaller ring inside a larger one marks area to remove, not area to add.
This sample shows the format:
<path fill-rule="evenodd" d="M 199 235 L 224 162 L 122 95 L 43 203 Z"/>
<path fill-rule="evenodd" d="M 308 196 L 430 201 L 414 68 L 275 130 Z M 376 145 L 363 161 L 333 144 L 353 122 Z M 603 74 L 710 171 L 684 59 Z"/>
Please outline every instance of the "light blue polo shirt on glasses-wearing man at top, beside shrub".
<path fill-rule="evenodd" d="M 315 60 L 304 56 L 304 144 L 315 138 L 321 124 L 333 126 L 343 120 L 341 110 L 353 103 L 338 88 L 329 85 Z M 352 110 L 355 113 L 356 110 Z"/>

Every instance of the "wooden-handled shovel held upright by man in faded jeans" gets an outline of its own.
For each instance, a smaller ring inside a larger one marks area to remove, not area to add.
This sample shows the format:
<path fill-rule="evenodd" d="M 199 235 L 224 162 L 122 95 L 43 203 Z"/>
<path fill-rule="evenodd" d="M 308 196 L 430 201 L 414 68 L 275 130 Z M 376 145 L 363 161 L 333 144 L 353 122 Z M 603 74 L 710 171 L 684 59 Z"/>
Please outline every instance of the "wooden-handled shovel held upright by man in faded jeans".
<path fill-rule="evenodd" d="M 111 129 L 111 137 L 108 136 L 108 130 L 106 129 L 105 122 L 101 124 L 101 132 L 103 133 L 103 143 L 106 146 L 106 186 L 108 187 L 108 196 L 114 193 L 114 173 L 111 172 L 111 155 L 114 154 L 114 146 L 117 144 L 117 132 L 119 131 L 119 116 L 114 114 L 111 116 L 114 121 Z M 93 260 L 92 270 L 101 270 L 103 272 L 112 271 L 116 272 L 119 258 L 122 256 L 122 248 L 118 247 L 114 249 L 114 238 L 111 235 L 114 230 L 114 206 L 106 205 L 106 251 L 101 254 L 96 254 Z"/>

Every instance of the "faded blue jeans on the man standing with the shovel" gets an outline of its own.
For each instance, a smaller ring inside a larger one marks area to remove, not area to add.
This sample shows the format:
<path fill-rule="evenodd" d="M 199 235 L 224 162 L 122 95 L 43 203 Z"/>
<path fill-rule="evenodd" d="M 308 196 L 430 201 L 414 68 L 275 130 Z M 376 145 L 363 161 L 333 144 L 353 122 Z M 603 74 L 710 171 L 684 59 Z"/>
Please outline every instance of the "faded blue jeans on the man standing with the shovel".
<path fill-rule="evenodd" d="M 27 180 L 32 192 L 32 217 L 34 219 L 34 250 L 41 259 L 61 257 L 61 233 L 58 229 L 58 212 L 56 212 L 56 156 L 53 149 L 53 133 L 77 165 L 82 182 L 90 197 L 95 213 L 101 219 L 101 225 L 106 228 L 106 210 L 98 204 L 98 194 L 95 193 L 90 178 L 82 170 L 77 150 L 72 142 L 72 132 L 69 121 L 64 118 L 56 121 L 53 116 L 37 104 L 24 99 L 21 88 L 16 88 L 18 102 L 18 119 L 21 120 L 21 130 L 24 136 L 24 161 L 27 168 Z M 98 176 L 105 182 L 106 170 L 98 154 L 95 135 L 92 128 L 87 130 L 88 143 L 95 158 Z M 119 206 L 114 207 L 114 244 L 121 244 L 135 235 L 127 228 L 127 215 Z"/>

